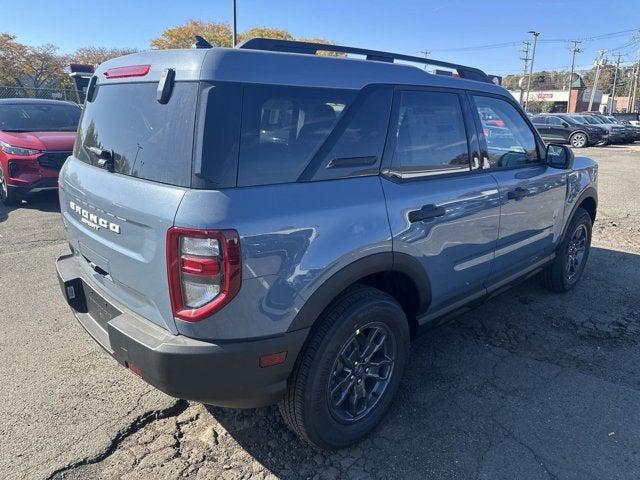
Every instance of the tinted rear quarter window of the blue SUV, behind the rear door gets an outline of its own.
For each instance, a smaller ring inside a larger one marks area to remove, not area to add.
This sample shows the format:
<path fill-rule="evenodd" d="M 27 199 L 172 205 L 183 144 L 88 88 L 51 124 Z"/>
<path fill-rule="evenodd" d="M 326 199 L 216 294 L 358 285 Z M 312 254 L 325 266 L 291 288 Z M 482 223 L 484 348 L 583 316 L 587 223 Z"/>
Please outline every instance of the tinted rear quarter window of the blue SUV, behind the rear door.
<path fill-rule="evenodd" d="M 238 186 L 295 182 L 356 92 L 246 85 Z"/>

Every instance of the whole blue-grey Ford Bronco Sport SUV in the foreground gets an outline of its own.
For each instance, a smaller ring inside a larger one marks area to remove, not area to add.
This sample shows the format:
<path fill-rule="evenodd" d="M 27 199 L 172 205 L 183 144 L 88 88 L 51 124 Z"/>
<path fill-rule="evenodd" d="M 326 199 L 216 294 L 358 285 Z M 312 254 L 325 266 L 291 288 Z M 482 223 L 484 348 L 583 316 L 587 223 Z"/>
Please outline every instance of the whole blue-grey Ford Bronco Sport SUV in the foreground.
<path fill-rule="evenodd" d="M 576 285 L 597 169 L 471 67 L 266 39 L 137 53 L 89 84 L 58 277 L 151 385 L 278 403 L 301 438 L 345 447 L 384 417 L 420 327 L 533 275 Z"/>

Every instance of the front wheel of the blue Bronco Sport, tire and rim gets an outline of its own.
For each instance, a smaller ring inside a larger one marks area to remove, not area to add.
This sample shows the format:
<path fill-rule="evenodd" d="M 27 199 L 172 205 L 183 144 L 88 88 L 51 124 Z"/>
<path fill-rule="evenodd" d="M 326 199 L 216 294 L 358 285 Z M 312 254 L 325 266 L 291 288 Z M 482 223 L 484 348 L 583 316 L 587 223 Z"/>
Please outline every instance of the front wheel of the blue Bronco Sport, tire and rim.
<path fill-rule="evenodd" d="M 567 233 L 556 250 L 556 258 L 540 274 L 540 282 L 545 288 L 564 293 L 578 283 L 589 259 L 591 229 L 589 213 L 582 208 L 576 209 Z M 577 247 L 580 244 L 583 249 Z"/>

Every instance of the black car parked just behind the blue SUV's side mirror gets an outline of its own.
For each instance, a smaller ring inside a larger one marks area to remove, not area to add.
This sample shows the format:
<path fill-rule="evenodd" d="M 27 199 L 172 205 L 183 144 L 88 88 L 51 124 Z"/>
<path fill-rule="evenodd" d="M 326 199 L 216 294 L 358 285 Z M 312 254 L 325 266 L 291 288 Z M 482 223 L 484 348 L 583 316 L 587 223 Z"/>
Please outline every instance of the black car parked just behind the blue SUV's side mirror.
<path fill-rule="evenodd" d="M 569 115 L 537 115 L 531 120 L 547 142 L 568 143 L 575 148 L 606 142 L 609 131 L 595 125 L 585 125 Z"/>

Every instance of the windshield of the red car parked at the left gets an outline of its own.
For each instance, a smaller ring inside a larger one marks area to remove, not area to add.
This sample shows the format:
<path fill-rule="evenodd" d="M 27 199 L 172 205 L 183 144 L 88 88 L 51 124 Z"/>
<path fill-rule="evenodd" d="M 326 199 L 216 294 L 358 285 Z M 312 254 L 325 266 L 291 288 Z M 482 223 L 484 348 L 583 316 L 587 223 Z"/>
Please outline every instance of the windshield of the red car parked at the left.
<path fill-rule="evenodd" d="M 0 105 L 0 130 L 5 132 L 75 132 L 81 109 L 71 104 Z"/>

